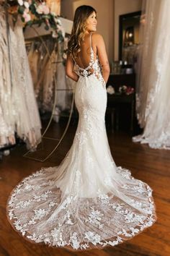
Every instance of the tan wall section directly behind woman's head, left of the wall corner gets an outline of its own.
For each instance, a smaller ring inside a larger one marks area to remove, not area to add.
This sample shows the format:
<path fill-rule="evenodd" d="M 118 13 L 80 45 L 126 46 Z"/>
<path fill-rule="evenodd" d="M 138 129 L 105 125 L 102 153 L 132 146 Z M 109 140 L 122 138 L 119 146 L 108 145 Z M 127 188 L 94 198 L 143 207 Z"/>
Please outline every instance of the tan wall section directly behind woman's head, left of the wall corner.
<path fill-rule="evenodd" d="M 76 8 L 82 4 L 90 5 L 97 10 L 97 32 L 104 38 L 108 59 L 111 61 L 114 54 L 114 0 L 63 0 L 61 1 L 61 15 L 73 20 Z"/>

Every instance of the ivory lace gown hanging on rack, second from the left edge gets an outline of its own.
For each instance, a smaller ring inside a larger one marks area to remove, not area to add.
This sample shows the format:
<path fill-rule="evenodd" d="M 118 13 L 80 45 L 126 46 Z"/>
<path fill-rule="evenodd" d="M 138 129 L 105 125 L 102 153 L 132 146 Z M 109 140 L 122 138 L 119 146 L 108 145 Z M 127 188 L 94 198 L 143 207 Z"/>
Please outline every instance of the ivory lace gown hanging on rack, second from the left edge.
<path fill-rule="evenodd" d="M 9 17 L 9 35 L 12 48 L 12 106 L 15 114 L 17 135 L 27 143 L 27 148 L 35 149 L 41 141 L 41 122 L 32 84 L 32 76 L 24 44 L 22 21 L 12 26 Z"/>

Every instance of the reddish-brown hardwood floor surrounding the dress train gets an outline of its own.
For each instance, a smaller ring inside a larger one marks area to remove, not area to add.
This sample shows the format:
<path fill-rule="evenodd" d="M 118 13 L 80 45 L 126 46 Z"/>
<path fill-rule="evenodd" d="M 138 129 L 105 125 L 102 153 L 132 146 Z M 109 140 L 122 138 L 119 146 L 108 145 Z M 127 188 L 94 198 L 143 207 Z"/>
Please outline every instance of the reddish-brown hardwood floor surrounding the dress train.
<path fill-rule="evenodd" d="M 61 146 L 44 163 L 22 157 L 25 146 L 18 145 L 0 162 L 0 256 L 169 256 L 170 255 L 170 150 L 153 150 L 133 143 L 130 136 L 108 131 L 109 145 L 117 166 L 129 168 L 136 179 L 153 189 L 158 220 L 149 229 L 117 247 L 85 252 L 69 252 L 42 244 L 32 244 L 12 229 L 6 218 L 6 200 L 13 187 L 25 176 L 42 166 L 56 166 L 71 146 L 76 125 L 69 128 Z M 53 125 L 50 135 L 57 136 L 61 127 Z M 54 143 L 55 141 L 53 141 Z M 50 150 L 48 140 L 45 150 Z M 39 152 L 42 153 L 41 151 Z"/>

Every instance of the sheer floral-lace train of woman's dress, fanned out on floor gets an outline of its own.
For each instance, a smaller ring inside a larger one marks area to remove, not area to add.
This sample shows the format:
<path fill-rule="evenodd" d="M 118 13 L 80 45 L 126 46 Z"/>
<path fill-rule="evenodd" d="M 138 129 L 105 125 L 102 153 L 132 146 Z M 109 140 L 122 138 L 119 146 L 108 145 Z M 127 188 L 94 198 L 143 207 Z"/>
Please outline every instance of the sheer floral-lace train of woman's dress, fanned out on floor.
<path fill-rule="evenodd" d="M 143 182 L 138 181 L 135 186 L 123 184 L 122 188 L 147 198 L 146 203 L 133 200 L 133 205 L 145 208 L 146 214 L 100 190 L 95 198 L 82 199 L 67 195 L 61 200 L 61 190 L 50 180 L 55 171 L 55 168 L 42 169 L 23 179 L 8 202 L 9 219 L 14 229 L 33 242 L 70 249 L 114 246 L 132 238 L 156 221 L 152 189 Z M 117 168 L 117 174 L 127 182 L 134 180 L 130 171 L 121 167 Z M 40 182 L 36 194 L 35 187 L 30 184 L 32 180 Z M 29 200 L 21 200 L 23 196 L 29 197 Z M 34 210 L 31 212 L 31 209 Z M 22 215 L 23 210 L 29 214 Z"/>

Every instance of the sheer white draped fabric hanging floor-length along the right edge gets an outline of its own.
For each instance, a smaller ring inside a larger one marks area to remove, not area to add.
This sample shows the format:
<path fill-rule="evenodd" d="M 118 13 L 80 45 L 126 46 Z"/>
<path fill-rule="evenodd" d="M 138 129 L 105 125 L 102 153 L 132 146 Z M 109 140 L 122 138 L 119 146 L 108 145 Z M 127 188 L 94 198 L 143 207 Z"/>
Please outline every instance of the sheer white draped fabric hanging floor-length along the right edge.
<path fill-rule="evenodd" d="M 143 135 L 133 141 L 170 149 L 170 1 L 143 1 L 137 74 L 137 115 Z"/>

